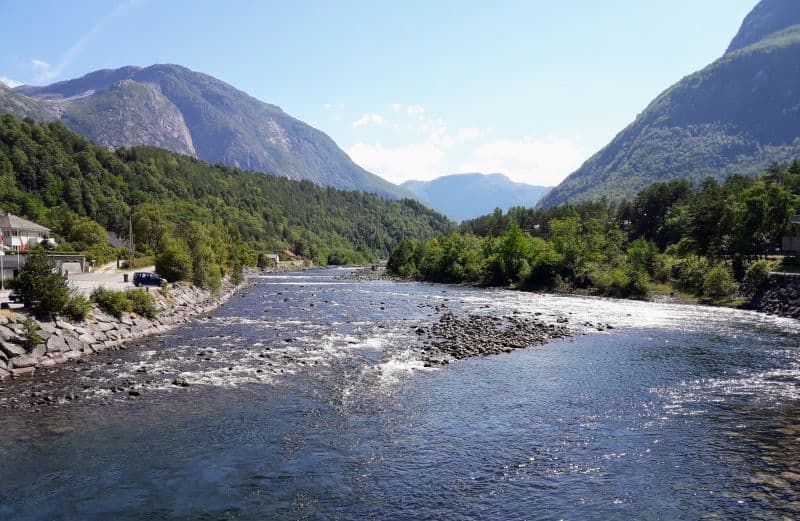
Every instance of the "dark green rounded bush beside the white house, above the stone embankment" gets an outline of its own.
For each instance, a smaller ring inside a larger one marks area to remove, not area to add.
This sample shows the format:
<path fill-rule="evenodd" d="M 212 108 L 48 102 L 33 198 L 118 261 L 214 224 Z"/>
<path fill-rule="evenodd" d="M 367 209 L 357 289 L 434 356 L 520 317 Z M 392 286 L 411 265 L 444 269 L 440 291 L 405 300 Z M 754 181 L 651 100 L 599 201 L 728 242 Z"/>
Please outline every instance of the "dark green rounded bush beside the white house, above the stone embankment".
<path fill-rule="evenodd" d="M 55 263 L 43 251 L 27 256 L 14 280 L 14 287 L 22 296 L 25 307 L 40 318 L 60 314 L 69 300 L 66 279 L 56 273 Z"/>

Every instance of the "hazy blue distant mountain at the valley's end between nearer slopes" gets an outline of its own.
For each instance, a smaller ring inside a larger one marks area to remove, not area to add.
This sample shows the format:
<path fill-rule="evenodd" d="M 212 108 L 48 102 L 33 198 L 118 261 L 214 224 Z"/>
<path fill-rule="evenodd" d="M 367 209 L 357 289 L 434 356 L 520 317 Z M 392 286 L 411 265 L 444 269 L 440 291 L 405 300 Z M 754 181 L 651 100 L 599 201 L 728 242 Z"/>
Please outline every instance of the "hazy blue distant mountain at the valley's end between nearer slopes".
<path fill-rule="evenodd" d="M 550 191 L 546 186 L 515 183 L 503 174 L 455 174 L 402 185 L 419 199 L 457 221 L 474 219 L 495 208 L 534 206 Z"/>

